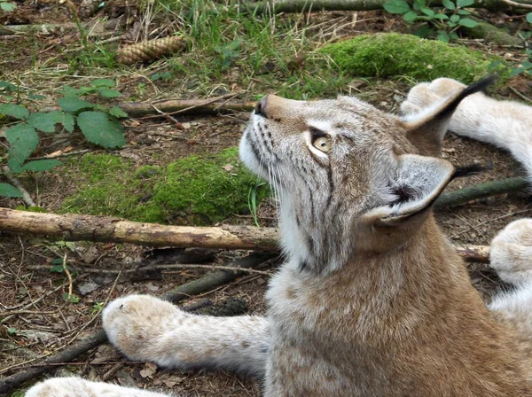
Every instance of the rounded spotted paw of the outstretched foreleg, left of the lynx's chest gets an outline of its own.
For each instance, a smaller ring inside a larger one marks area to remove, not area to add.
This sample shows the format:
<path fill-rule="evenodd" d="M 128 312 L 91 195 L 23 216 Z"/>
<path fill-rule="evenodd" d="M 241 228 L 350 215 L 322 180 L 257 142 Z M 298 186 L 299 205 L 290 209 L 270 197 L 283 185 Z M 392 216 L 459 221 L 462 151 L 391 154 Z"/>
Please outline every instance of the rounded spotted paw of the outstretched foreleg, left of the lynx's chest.
<path fill-rule="evenodd" d="M 132 360 L 159 362 L 164 334 L 186 314 L 171 303 L 149 295 L 113 300 L 103 312 L 107 337 Z"/>

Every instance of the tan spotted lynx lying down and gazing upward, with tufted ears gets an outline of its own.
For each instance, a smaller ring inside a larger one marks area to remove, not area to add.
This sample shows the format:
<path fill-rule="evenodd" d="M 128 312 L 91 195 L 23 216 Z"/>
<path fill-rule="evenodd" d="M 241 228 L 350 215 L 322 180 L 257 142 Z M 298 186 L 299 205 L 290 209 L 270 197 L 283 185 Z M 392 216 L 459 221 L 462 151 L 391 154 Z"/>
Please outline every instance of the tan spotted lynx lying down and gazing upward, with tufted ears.
<path fill-rule="evenodd" d="M 286 262 L 268 315 L 192 315 L 132 295 L 104 310 L 109 340 L 133 360 L 250 373 L 268 397 L 532 395 L 532 263 L 509 254 L 530 249 L 529 229 L 494 241 L 516 287 L 486 307 L 431 209 L 463 174 L 437 157 L 451 116 L 486 84 L 403 118 L 352 97 L 262 98 L 240 154 L 280 197 Z M 81 378 L 27 392 L 125 395 L 162 396 Z"/>

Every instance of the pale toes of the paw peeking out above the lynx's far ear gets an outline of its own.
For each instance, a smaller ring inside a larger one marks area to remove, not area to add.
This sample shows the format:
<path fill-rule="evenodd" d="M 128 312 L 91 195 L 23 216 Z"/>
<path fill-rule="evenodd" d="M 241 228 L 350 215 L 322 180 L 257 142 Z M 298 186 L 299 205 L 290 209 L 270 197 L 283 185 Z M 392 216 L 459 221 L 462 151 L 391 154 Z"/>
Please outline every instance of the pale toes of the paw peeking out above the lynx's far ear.
<path fill-rule="evenodd" d="M 434 82 L 422 82 L 410 90 L 408 97 L 401 105 L 401 110 L 404 114 L 419 113 L 422 109 L 463 88 L 465 85 L 461 82 L 447 78 L 436 79 Z"/>

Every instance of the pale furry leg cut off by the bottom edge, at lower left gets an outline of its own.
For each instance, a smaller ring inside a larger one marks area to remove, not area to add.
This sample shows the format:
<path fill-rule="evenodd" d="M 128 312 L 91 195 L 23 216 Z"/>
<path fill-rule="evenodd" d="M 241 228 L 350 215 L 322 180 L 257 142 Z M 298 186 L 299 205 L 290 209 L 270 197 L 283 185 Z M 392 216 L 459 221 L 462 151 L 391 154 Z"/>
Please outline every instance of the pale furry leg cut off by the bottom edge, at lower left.
<path fill-rule="evenodd" d="M 25 397 L 169 397 L 168 394 L 122 387 L 82 378 L 51 378 L 30 388 Z"/>

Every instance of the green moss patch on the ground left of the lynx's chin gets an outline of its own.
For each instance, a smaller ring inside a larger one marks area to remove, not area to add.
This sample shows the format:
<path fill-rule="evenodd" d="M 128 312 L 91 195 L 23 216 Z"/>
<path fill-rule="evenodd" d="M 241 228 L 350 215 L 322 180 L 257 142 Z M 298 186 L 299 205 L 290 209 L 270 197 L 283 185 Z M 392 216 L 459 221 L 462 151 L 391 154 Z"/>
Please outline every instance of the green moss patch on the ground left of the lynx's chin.
<path fill-rule="evenodd" d="M 74 165 L 72 165 L 74 167 Z M 257 183 L 237 148 L 138 169 L 110 154 L 84 156 L 77 165 L 78 192 L 61 212 L 105 214 L 138 222 L 206 225 L 247 210 Z M 268 194 L 259 190 L 259 199 Z"/>

